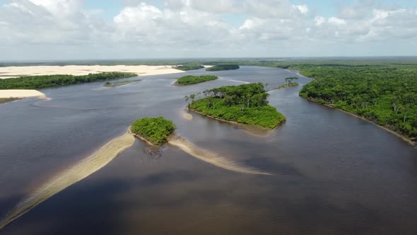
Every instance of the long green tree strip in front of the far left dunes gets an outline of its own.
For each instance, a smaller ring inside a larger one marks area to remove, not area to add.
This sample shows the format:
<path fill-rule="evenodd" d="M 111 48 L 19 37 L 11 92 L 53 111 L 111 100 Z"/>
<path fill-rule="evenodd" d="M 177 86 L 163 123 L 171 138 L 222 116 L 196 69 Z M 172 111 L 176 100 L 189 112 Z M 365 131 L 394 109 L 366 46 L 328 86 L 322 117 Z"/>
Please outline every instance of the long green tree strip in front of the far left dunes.
<path fill-rule="evenodd" d="M 45 75 L 22 76 L 14 79 L 0 79 L 0 89 L 39 89 L 55 86 L 67 86 L 72 84 L 84 84 L 93 81 L 105 81 L 111 79 L 125 79 L 137 76 L 132 73 L 105 72 L 100 74 L 88 74 L 82 76 L 73 75 Z"/>

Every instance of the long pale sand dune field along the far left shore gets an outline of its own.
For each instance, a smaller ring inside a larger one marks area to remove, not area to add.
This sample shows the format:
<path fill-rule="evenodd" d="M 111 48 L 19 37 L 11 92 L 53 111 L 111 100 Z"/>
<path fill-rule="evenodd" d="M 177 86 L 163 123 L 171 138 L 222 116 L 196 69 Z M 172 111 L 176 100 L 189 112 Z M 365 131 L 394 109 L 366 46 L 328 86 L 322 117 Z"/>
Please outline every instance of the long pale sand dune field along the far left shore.
<path fill-rule="evenodd" d="M 139 76 L 176 74 L 183 71 L 172 69 L 172 66 L 148 66 L 148 65 L 67 65 L 67 66 L 23 66 L 23 67 L 0 67 L 0 79 L 9 79 L 18 76 L 71 74 L 86 75 L 97 74 L 103 71 L 131 72 Z"/>

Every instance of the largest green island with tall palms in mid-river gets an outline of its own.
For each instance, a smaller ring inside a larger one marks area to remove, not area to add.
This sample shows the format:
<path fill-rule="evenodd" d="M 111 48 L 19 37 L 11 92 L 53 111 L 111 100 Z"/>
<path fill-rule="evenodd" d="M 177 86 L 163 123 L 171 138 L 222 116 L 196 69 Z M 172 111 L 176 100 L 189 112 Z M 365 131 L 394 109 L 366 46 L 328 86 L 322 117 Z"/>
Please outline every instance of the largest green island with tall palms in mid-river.
<path fill-rule="evenodd" d="M 203 115 L 269 129 L 286 120 L 276 108 L 268 105 L 269 93 L 261 83 L 214 88 L 204 91 L 206 98 L 194 101 L 199 95 L 186 96 L 185 100 L 192 98 L 188 108 Z"/>

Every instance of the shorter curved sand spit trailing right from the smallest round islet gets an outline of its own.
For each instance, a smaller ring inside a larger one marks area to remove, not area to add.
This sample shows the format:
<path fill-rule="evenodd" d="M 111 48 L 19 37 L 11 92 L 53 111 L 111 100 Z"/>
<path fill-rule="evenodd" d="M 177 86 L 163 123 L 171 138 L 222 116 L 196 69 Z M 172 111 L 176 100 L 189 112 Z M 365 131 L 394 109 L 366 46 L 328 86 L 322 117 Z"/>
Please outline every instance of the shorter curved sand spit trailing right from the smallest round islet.
<path fill-rule="evenodd" d="M 188 142 L 186 139 L 182 137 L 174 136 L 168 139 L 168 144 L 182 149 L 187 154 L 190 154 L 201 161 L 205 161 L 206 163 L 213 164 L 214 166 L 218 166 L 224 168 L 229 171 L 235 171 L 239 173 L 248 173 L 248 174 L 258 174 L 258 175 L 271 175 L 270 173 L 263 173 L 261 171 L 257 171 L 245 166 L 239 166 L 235 164 L 233 161 L 225 159 L 217 154 L 214 154 L 211 151 L 199 149 L 195 147 L 193 144 Z"/>

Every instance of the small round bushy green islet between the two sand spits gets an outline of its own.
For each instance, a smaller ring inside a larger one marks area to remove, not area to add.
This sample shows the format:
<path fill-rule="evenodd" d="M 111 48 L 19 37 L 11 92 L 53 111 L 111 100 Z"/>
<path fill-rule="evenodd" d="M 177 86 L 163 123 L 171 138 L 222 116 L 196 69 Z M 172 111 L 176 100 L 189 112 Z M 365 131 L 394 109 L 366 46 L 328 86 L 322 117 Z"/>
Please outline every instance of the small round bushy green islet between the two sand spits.
<path fill-rule="evenodd" d="M 163 117 L 144 117 L 131 124 L 131 132 L 137 134 L 153 144 L 163 144 L 172 132 L 175 124 Z"/>

